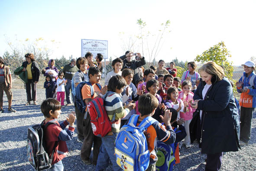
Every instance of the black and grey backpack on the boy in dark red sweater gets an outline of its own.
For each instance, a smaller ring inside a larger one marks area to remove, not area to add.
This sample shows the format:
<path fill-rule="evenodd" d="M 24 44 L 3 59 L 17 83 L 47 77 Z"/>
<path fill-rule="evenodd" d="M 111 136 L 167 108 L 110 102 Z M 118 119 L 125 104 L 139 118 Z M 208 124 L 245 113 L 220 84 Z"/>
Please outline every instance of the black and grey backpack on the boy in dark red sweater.
<path fill-rule="evenodd" d="M 49 121 L 45 125 L 42 122 L 41 124 L 28 128 L 27 156 L 29 164 L 32 165 L 36 171 L 43 171 L 52 167 L 52 159 L 58 141 L 55 142 L 52 155 L 50 156 L 51 158 L 49 158 L 49 155 L 45 152 L 46 146 L 43 138 L 44 129 L 46 129 L 50 124 L 58 125 L 54 121 Z"/>

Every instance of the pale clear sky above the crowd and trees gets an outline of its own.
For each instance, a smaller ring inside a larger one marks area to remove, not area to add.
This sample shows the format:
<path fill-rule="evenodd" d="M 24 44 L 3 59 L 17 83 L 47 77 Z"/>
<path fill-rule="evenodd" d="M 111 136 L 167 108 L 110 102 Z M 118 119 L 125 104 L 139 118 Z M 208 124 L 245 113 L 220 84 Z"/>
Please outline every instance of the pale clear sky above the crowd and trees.
<path fill-rule="evenodd" d="M 0 55 L 8 50 L 4 35 L 17 35 L 60 42 L 52 58 L 80 57 L 81 39 L 107 40 L 108 56 L 119 57 L 119 33 L 138 34 L 141 18 L 152 33 L 171 22 L 157 61 L 192 61 L 221 41 L 235 65 L 256 56 L 255 0 L 0 0 L 0 7 Z"/>

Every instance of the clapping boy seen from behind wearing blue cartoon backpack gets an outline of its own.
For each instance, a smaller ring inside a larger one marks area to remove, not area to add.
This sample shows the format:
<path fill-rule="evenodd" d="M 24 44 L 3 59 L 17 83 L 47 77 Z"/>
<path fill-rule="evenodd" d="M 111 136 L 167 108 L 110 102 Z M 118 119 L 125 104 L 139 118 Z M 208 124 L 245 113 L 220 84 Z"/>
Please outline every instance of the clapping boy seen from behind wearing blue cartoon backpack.
<path fill-rule="evenodd" d="M 156 171 L 156 141 L 172 144 L 175 142 L 175 132 L 172 129 L 170 120 L 172 113 L 165 110 L 164 116 L 160 116 L 165 123 L 163 126 L 156 119 L 153 119 L 158 100 L 152 94 L 143 94 L 139 97 L 139 115 L 132 115 L 117 135 L 116 139 L 116 158 L 117 164 L 123 170 Z M 135 130 L 135 131 L 134 131 Z M 143 132 L 140 134 L 140 132 Z M 136 138 L 137 137 L 137 138 Z M 139 152 L 130 151 L 134 149 L 133 142 L 141 141 Z M 146 139 L 146 141 L 144 141 Z M 130 152 L 129 152 L 130 151 Z"/>

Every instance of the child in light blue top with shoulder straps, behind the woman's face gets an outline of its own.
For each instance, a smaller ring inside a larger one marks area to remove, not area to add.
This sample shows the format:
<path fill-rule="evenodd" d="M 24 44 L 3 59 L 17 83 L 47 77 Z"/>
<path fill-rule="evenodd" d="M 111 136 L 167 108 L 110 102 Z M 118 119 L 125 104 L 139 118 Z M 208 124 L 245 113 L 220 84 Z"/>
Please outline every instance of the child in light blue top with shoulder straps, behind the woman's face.
<path fill-rule="evenodd" d="M 191 81 L 193 90 L 196 89 L 196 81 L 200 79 L 200 75 L 198 74 L 198 72 L 195 71 L 196 68 L 197 65 L 194 61 L 188 62 L 188 71 L 185 71 L 181 77 L 181 84 L 184 80 Z"/>

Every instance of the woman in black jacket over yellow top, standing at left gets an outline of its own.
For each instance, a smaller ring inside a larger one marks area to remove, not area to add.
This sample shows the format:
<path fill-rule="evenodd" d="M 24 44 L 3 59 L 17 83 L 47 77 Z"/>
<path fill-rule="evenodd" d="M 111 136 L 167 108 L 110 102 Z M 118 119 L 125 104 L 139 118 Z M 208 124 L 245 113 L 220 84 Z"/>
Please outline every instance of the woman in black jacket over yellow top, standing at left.
<path fill-rule="evenodd" d="M 25 105 L 29 105 L 30 101 L 33 100 L 34 104 L 36 103 L 36 85 L 39 81 L 39 66 L 35 61 L 35 56 L 32 53 L 27 53 L 25 55 L 26 61 L 23 62 L 22 66 L 23 71 L 28 72 L 28 82 L 26 83 L 26 94 L 27 94 L 27 103 Z M 32 88 L 32 98 L 31 98 L 31 88 Z"/>

